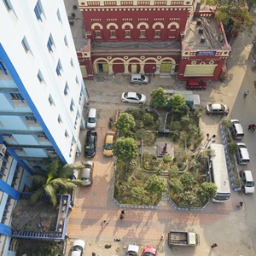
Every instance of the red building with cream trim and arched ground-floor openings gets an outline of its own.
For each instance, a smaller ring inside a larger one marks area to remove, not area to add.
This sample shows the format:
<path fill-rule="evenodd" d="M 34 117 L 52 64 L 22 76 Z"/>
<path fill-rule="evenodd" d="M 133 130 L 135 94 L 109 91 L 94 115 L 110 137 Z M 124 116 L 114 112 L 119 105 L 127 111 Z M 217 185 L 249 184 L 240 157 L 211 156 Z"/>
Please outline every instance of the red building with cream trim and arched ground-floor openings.
<path fill-rule="evenodd" d="M 211 10 L 195 12 L 194 2 L 79 0 L 88 39 L 78 52 L 84 79 L 95 73 L 153 73 L 217 80 L 230 45 L 221 30 L 215 39 L 222 43 L 212 43 L 208 30 L 221 25 L 214 24 Z M 207 18 L 199 25 L 201 16 Z"/>

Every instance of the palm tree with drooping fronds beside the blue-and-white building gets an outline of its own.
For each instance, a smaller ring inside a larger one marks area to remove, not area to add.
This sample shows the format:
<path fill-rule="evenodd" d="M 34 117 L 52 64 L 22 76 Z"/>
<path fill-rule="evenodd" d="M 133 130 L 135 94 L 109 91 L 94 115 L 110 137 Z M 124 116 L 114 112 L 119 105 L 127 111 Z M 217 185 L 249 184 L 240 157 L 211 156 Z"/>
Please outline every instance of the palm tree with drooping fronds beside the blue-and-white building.
<path fill-rule="evenodd" d="M 35 204 L 42 195 L 49 195 L 50 201 L 55 207 L 58 202 L 58 194 L 69 194 L 71 191 L 82 185 L 80 179 L 72 179 L 74 169 L 80 169 L 81 166 L 65 165 L 56 158 L 49 159 L 47 171 L 36 167 L 36 172 L 31 176 L 38 189 L 31 197 L 32 205 Z"/>

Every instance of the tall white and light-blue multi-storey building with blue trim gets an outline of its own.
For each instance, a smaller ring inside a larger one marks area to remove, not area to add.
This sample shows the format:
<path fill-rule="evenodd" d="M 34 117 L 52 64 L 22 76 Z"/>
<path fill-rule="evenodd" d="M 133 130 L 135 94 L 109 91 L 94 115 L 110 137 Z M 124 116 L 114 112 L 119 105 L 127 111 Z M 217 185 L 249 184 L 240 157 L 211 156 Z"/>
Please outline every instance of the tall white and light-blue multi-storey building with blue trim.
<path fill-rule="evenodd" d="M 0 2 L 0 254 L 11 212 L 49 156 L 73 163 L 82 151 L 87 102 L 63 1 Z"/>

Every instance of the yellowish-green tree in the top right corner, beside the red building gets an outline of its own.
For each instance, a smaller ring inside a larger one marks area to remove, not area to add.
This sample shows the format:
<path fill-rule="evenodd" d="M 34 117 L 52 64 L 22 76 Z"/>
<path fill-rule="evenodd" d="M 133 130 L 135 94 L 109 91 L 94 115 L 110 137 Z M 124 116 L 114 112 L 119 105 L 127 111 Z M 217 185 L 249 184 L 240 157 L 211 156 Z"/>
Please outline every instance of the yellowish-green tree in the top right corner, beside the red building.
<path fill-rule="evenodd" d="M 249 14 L 246 8 L 246 1 L 234 1 L 234 0 L 202 0 L 211 6 L 216 6 L 215 17 L 222 21 L 224 26 L 227 26 L 230 20 L 233 21 L 233 33 L 247 32 L 252 33 L 255 21 Z M 250 3 L 250 0 L 249 0 Z M 252 2 L 253 3 L 253 2 Z"/>

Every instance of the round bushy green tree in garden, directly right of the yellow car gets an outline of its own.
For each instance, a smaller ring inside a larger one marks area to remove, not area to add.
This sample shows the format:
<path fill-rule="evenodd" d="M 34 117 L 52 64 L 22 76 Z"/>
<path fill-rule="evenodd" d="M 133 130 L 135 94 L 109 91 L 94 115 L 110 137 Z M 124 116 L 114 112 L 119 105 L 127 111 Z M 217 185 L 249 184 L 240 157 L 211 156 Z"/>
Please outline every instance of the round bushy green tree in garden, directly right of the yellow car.
<path fill-rule="evenodd" d="M 113 154 L 121 160 L 132 160 L 137 156 L 137 143 L 131 137 L 119 137 L 113 146 Z"/>

